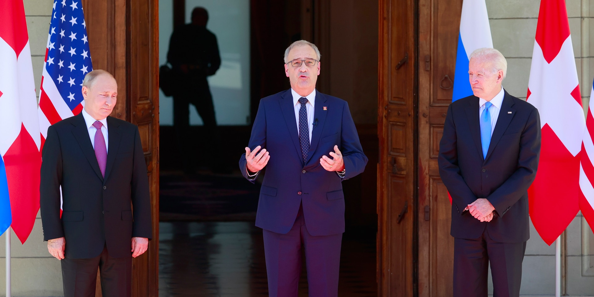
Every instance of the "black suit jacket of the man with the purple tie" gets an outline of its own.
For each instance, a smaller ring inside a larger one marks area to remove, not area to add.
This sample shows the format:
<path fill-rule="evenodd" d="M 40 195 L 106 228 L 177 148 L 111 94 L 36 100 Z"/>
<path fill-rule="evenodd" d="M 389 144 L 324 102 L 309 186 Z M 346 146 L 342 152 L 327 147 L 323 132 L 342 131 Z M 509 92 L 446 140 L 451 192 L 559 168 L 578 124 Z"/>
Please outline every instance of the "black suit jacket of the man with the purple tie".
<path fill-rule="evenodd" d="M 111 257 L 131 257 L 132 237 L 152 237 L 149 179 L 138 127 L 111 116 L 107 121 L 105 178 L 82 113 L 50 126 L 43 146 L 43 239 L 65 237 L 69 258 L 97 257 L 105 245 Z"/>

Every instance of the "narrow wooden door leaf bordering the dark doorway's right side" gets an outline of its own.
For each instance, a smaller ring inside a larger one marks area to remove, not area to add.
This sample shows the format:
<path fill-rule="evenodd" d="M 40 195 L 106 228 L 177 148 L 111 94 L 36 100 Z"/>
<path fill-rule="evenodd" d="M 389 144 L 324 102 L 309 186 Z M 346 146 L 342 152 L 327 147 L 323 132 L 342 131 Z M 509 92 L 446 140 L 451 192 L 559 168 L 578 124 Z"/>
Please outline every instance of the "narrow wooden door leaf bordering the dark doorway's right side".
<path fill-rule="evenodd" d="M 380 296 L 413 296 L 416 188 L 415 0 L 380 0 L 378 235 Z"/>

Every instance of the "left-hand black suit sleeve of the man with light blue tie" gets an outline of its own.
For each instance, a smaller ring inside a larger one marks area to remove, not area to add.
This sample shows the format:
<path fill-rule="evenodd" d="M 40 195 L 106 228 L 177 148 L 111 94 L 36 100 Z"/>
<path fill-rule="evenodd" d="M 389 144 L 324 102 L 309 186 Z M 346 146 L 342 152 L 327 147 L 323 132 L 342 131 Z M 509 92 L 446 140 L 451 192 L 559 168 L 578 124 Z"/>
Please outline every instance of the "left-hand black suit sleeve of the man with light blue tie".
<path fill-rule="evenodd" d="M 462 207 L 459 208 L 460 215 L 462 216 L 464 214 L 462 210 L 468 204 L 473 203 L 476 200 L 476 196 L 470 190 L 462 175 L 460 175 L 456 125 L 454 124 L 451 105 L 448 107 L 447 115 L 445 116 L 444 131 L 440 141 L 440 153 L 437 162 L 440 168 L 441 181 L 444 182 L 453 203 L 456 203 L 458 207 Z"/>

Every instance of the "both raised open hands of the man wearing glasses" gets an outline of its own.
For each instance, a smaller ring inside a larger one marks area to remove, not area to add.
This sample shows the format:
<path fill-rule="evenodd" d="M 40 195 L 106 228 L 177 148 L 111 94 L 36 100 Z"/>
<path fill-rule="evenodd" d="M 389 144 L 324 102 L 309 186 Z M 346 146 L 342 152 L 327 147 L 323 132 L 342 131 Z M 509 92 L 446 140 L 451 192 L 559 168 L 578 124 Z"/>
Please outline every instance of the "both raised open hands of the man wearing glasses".
<path fill-rule="evenodd" d="M 268 164 L 270 160 L 270 154 L 266 149 L 262 149 L 261 146 L 255 147 L 253 151 L 249 150 L 249 147 L 245 148 L 245 160 L 247 161 L 247 168 L 249 172 L 258 172 Z M 258 151 L 260 151 L 258 153 Z M 345 170 L 345 160 L 342 158 L 342 153 L 338 149 L 338 146 L 334 146 L 334 151 L 330 151 L 330 159 L 327 156 L 322 156 L 320 159 L 320 165 L 328 171 L 343 171 Z"/>

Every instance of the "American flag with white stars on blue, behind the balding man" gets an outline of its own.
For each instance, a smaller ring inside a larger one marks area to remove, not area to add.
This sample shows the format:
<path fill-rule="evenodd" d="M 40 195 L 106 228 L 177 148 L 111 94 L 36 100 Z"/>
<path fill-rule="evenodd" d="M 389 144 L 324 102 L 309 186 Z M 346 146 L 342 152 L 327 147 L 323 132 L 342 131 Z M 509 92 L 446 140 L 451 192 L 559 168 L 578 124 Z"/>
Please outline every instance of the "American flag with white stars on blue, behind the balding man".
<path fill-rule="evenodd" d="M 42 148 L 48 128 L 83 110 L 84 75 L 93 71 L 81 0 L 53 2 L 39 94 Z"/>

